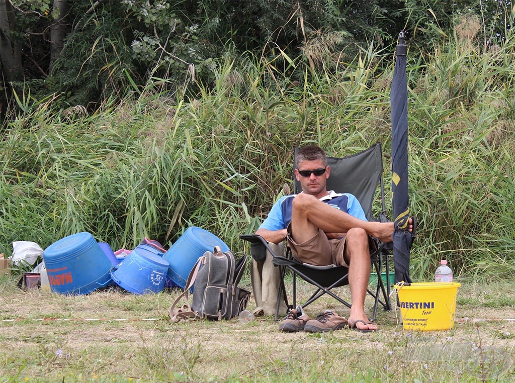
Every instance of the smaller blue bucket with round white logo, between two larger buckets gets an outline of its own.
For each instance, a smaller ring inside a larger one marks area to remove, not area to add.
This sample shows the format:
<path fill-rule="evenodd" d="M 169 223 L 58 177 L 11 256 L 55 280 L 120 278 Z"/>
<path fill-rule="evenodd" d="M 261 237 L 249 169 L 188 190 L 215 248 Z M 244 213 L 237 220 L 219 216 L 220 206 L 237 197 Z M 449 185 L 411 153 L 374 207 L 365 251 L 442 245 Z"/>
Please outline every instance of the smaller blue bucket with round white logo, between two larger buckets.
<path fill-rule="evenodd" d="M 163 290 L 169 263 L 159 255 L 140 253 L 139 247 L 111 269 L 113 281 L 133 294 L 158 293 Z"/>

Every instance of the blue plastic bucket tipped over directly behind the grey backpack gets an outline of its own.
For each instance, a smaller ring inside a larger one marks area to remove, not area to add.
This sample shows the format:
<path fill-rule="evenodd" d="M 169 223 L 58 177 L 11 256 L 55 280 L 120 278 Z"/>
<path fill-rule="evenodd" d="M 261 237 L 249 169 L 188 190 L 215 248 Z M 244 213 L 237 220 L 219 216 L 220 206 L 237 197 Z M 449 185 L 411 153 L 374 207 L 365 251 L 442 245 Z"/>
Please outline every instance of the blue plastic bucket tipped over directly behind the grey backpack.
<path fill-rule="evenodd" d="M 213 251 L 215 246 L 219 246 L 222 251 L 229 251 L 229 247 L 209 231 L 195 226 L 186 229 L 163 255 L 170 263 L 167 286 L 184 288 L 197 259 L 206 251 Z"/>

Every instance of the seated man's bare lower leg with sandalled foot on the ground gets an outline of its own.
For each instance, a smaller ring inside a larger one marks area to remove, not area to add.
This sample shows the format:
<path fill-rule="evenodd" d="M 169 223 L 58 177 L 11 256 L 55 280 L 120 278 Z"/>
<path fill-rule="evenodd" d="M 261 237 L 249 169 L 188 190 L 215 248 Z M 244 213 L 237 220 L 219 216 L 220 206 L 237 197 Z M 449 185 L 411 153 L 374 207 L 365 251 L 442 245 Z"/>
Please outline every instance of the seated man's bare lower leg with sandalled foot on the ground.
<path fill-rule="evenodd" d="M 367 294 L 368 280 L 370 278 L 370 249 L 368 247 L 368 235 L 363 229 L 350 229 L 347 232 L 345 243 L 345 261 L 349 265 L 349 287 L 351 289 L 352 307 L 348 318 L 349 326 L 361 330 L 376 330 L 376 324 L 368 323 L 365 313 L 365 297 Z"/>

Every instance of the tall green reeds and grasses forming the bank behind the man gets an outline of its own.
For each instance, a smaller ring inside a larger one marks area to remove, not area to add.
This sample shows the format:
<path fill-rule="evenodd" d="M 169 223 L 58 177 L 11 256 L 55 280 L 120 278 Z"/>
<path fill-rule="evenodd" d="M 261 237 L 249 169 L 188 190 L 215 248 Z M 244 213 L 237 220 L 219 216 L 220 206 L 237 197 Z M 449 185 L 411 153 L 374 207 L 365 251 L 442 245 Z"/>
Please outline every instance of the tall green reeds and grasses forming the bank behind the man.
<path fill-rule="evenodd" d="M 457 275 L 514 268 L 514 46 L 485 49 L 462 30 L 432 55 L 408 52 L 415 280 L 440 258 Z M 0 141 L 2 251 L 13 240 L 45 247 L 83 230 L 118 248 L 144 236 L 169 246 L 190 225 L 243 250 L 238 235 L 255 231 L 293 189 L 292 150 L 306 143 L 336 155 L 382 143 L 391 210 L 390 55 L 370 45 L 334 72 L 284 51 L 239 62 L 213 60 L 213 81 L 197 80 L 194 99 L 149 87 L 87 114 L 20 98 L 24 114 Z"/>

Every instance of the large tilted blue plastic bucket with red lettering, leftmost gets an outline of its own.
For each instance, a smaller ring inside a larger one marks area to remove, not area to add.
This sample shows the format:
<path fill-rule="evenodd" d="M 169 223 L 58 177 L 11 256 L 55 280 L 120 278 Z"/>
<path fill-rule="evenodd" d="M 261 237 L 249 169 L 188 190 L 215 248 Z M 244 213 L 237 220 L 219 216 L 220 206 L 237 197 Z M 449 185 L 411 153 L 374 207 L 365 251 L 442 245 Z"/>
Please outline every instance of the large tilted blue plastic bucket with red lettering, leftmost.
<path fill-rule="evenodd" d="M 58 240 L 43 251 L 50 290 L 87 294 L 111 281 L 111 261 L 90 233 Z"/>

